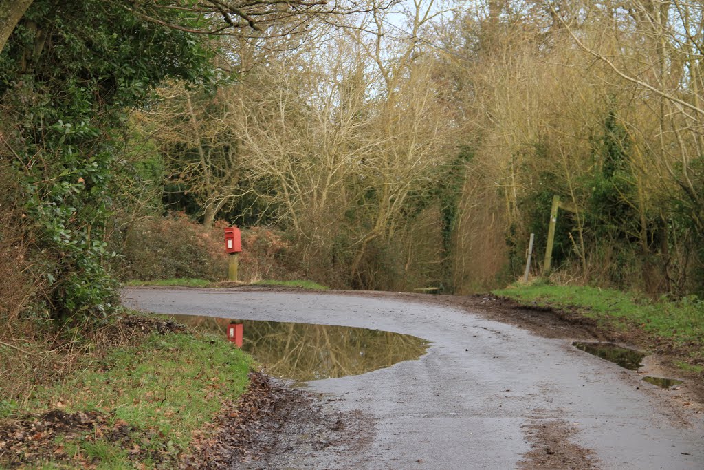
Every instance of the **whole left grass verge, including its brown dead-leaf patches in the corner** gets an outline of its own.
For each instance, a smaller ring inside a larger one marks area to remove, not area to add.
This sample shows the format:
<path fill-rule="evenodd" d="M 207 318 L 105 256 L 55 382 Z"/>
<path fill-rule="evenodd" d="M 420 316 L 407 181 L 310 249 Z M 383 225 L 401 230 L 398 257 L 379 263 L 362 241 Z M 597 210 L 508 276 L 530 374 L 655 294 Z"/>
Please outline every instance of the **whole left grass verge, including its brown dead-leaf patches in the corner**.
<path fill-rule="evenodd" d="M 206 332 L 155 332 L 86 357 L 0 421 L 0 468 L 177 468 L 191 438 L 245 390 L 251 364 Z"/>

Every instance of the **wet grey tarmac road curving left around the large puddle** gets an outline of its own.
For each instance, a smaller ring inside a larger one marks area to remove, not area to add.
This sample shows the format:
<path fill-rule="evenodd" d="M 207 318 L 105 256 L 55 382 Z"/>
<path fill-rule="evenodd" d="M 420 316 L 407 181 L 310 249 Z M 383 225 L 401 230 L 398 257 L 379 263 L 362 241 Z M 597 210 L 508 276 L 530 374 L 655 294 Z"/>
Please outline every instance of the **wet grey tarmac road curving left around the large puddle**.
<path fill-rule="evenodd" d="M 308 383 L 369 421 L 358 452 L 291 455 L 290 468 L 512 469 L 525 426 L 561 421 L 603 469 L 704 469 L 704 416 L 667 391 L 570 345 L 427 303 L 365 295 L 129 289 L 143 311 L 378 328 L 431 345 L 423 357 Z"/>

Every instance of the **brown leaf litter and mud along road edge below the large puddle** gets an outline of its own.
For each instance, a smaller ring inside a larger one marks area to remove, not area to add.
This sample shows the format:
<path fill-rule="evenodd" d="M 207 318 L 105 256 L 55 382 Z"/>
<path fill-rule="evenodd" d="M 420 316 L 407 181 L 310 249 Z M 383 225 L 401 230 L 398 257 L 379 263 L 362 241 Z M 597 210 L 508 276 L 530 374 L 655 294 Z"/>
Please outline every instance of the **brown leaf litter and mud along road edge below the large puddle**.
<path fill-rule="evenodd" d="M 318 395 L 251 373 L 249 390 L 225 407 L 215 433 L 196 436 L 180 468 L 279 469 L 290 464 L 292 455 L 302 463 L 320 452 L 339 457 L 368 445 L 362 432 L 368 418 L 331 411 L 325 404 Z"/>

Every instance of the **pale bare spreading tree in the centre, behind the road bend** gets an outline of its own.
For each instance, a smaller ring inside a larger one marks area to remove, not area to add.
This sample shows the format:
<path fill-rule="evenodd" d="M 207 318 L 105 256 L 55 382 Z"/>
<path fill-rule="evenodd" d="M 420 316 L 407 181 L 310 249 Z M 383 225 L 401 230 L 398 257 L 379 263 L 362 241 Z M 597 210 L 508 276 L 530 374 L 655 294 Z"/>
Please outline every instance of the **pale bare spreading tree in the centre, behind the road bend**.
<path fill-rule="evenodd" d="M 303 260 L 337 243 L 362 284 L 370 244 L 393 244 L 405 233 L 453 132 L 432 55 L 410 39 L 384 56 L 377 39 L 365 27 L 330 35 L 324 47 L 258 70 L 239 103 L 253 175 L 273 185 L 261 197 L 279 207 Z"/>

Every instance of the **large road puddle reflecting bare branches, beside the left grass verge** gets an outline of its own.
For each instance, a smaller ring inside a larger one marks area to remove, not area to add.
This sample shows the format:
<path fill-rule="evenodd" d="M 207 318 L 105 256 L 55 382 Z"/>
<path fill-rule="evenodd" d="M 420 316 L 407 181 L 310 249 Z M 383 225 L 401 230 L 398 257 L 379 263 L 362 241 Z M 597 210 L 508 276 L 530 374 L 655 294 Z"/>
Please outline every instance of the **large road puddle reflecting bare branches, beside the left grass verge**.
<path fill-rule="evenodd" d="M 355 376 L 417 359 L 427 348 L 427 342 L 415 336 L 367 328 L 208 316 L 175 315 L 174 319 L 223 335 L 229 323 L 244 323 L 242 349 L 272 376 L 298 381 Z"/>

